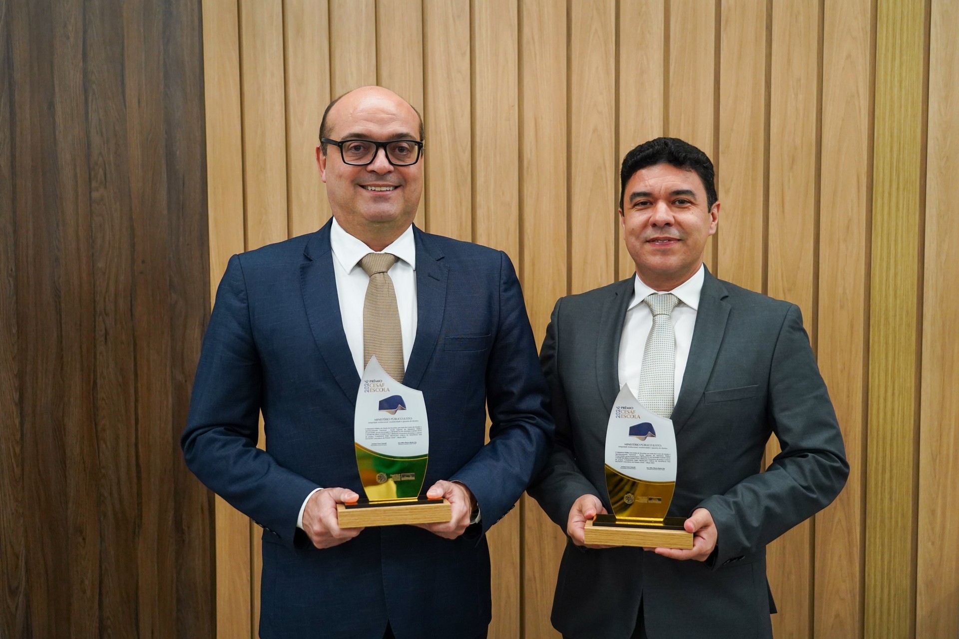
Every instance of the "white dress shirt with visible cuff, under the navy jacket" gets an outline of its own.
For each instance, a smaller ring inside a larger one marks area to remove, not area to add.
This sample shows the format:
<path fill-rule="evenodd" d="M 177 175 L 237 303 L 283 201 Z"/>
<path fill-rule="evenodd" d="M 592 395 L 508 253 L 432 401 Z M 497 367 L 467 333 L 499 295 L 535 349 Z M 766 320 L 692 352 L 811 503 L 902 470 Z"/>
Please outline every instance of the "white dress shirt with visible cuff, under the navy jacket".
<path fill-rule="evenodd" d="M 393 281 L 396 291 L 396 307 L 400 311 L 400 332 L 403 335 L 403 367 L 406 368 L 416 337 L 416 242 L 412 224 L 385 249 L 373 251 L 363 240 L 344 231 L 334 217 L 330 227 L 330 247 L 333 249 L 333 272 L 337 279 L 339 315 L 343 332 L 346 333 L 346 344 L 350 347 L 360 377 L 363 377 L 363 302 L 366 299 L 366 286 L 369 285 L 369 276 L 360 261 L 367 253 L 391 253 L 399 258 L 386 274 Z M 311 492 L 303 500 L 296 518 L 298 528 L 303 528 L 306 503 L 319 490 Z"/>

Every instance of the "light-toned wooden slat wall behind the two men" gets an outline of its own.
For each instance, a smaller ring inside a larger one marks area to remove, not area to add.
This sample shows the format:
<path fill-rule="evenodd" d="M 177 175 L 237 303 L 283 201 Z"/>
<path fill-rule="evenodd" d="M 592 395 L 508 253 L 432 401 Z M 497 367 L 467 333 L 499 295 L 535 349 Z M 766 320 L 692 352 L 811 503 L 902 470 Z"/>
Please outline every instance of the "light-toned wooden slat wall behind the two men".
<path fill-rule="evenodd" d="M 316 129 L 363 83 L 424 115 L 417 223 L 506 251 L 538 340 L 556 298 L 631 273 L 622 155 L 664 133 L 710 153 L 707 263 L 802 308 L 852 465 L 836 504 L 769 547 L 776 636 L 955 639 L 954 2 L 204 0 L 203 15 L 211 285 L 230 253 L 329 216 Z M 257 553 L 219 501 L 217 525 L 232 638 L 254 628 Z M 490 636 L 558 636 L 562 532 L 524 498 L 490 544 Z"/>

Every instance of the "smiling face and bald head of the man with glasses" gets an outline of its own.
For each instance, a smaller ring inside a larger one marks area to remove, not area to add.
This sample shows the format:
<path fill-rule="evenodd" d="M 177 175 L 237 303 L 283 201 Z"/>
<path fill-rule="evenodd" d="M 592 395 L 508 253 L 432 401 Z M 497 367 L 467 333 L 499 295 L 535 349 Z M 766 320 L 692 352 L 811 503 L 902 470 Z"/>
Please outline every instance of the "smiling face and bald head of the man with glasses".
<path fill-rule="evenodd" d="M 328 115 L 334 140 L 419 140 L 419 116 L 402 98 L 381 87 L 363 87 L 346 94 Z M 316 151 L 320 178 L 339 225 L 354 237 L 398 236 L 416 216 L 423 190 L 423 162 L 394 167 L 386 150 L 377 149 L 365 167 L 345 164 L 339 148 Z"/>

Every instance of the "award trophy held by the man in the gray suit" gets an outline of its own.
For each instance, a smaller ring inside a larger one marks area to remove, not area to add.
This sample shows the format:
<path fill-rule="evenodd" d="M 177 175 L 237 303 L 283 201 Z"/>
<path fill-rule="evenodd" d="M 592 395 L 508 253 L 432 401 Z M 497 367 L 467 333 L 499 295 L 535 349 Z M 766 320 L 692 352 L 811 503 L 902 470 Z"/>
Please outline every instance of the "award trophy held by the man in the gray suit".
<path fill-rule="evenodd" d="M 667 516 L 676 461 L 672 422 L 644 408 L 623 384 L 606 426 L 606 491 L 613 513 L 586 522 L 586 543 L 692 548 L 686 518 Z"/>

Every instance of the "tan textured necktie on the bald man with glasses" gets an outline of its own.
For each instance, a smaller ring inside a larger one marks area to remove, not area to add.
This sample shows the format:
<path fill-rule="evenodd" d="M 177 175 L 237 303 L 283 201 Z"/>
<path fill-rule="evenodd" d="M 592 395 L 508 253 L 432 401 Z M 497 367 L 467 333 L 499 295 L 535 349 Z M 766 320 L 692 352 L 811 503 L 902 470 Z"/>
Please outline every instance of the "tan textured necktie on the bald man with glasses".
<path fill-rule="evenodd" d="M 360 265 L 369 276 L 363 300 L 363 368 L 376 359 L 389 377 L 403 381 L 403 333 L 393 280 L 386 271 L 396 263 L 389 253 L 367 253 Z"/>

